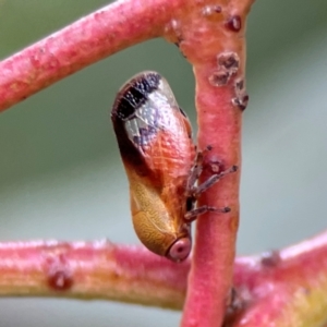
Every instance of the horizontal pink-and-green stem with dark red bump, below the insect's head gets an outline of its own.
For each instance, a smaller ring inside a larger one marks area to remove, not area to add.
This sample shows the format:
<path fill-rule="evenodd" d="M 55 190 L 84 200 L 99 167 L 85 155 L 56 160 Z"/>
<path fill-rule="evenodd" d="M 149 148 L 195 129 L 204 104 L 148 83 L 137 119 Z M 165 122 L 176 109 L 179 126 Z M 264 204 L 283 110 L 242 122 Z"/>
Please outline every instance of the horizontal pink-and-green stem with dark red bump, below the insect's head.
<path fill-rule="evenodd" d="M 109 242 L 0 243 L 0 295 L 107 299 L 181 308 L 190 262 L 175 267 L 144 247 Z"/>

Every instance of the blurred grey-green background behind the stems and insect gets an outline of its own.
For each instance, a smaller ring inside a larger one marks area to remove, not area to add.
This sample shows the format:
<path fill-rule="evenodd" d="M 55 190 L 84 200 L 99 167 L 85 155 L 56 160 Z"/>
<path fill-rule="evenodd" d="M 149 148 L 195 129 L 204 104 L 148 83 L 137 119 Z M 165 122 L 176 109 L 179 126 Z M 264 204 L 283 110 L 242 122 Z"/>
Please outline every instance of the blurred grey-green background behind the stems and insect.
<path fill-rule="evenodd" d="M 0 0 L 0 58 L 106 3 Z M 258 0 L 251 12 L 239 254 L 326 228 L 326 0 Z M 109 109 L 122 83 L 143 70 L 167 77 L 195 125 L 191 66 L 162 40 L 117 53 L 1 114 L 0 240 L 138 243 Z M 1 327 L 164 327 L 180 319 L 177 312 L 106 301 L 0 303 Z"/>

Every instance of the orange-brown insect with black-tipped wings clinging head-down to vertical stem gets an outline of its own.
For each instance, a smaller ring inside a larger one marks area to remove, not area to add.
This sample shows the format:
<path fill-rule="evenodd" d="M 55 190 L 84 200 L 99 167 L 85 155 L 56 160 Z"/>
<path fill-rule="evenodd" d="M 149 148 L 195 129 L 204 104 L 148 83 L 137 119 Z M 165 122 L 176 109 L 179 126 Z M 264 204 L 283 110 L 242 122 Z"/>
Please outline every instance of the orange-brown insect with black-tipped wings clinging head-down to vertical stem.
<path fill-rule="evenodd" d="M 203 154 L 196 154 L 191 123 L 156 72 L 142 72 L 126 82 L 117 95 L 111 120 L 138 239 L 156 254 L 173 262 L 185 259 L 192 247 L 191 222 L 206 211 L 229 211 L 195 208 L 198 195 L 229 171 L 195 186 Z"/>

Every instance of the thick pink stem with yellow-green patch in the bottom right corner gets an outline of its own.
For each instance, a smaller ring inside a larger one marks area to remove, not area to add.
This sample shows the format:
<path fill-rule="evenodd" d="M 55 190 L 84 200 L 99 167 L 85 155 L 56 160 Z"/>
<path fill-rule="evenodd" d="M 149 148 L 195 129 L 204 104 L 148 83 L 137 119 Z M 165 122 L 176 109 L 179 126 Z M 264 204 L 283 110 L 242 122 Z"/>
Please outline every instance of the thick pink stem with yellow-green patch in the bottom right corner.
<path fill-rule="evenodd" d="M 246 305 L 231 326 L 326 324 L 327 232 L 280 252 L 240 258 L 234 270 Z"/>

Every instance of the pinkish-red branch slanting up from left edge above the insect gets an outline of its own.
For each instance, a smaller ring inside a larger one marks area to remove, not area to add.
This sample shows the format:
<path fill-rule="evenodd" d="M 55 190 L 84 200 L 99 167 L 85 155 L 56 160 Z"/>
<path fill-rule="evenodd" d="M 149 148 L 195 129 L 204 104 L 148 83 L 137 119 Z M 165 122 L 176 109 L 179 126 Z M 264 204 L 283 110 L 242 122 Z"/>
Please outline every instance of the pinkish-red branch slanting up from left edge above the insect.
<path fill-rule="evenodd" d="M 117 1 L 0 62 L 0 111 L 81 69 L 160 36 L 187 0 Z"/>

